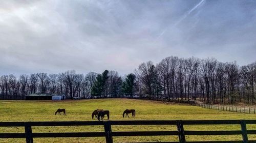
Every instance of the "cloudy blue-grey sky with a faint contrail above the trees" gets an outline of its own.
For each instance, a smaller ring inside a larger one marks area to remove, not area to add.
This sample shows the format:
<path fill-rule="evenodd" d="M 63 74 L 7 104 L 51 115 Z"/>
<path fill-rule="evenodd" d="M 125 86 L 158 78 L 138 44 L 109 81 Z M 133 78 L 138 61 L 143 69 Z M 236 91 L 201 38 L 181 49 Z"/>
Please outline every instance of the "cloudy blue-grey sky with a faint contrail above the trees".
<path fill-rule="evenodd" d="M 256 61 L 256 1 L 2 1 L 0 75 L 129 74 L 167 56 Z"/>

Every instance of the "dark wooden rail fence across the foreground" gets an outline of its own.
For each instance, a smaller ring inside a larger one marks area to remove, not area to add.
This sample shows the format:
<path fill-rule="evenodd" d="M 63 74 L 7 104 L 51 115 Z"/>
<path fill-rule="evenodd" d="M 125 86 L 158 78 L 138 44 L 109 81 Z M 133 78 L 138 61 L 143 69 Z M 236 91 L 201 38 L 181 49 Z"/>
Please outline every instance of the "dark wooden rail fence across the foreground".
<path fill-rule="evenodd" d="M 26 138 L 27 143 L 32 143 L 36 137 L 105 137 L 106 143 L 112 143 L 115 136 L 159 136 L 177 135 L 176 142 L 256 142 L 248 140 L 248 134 L 256 134 L 256 130 L 247 130 L 246 125 L 256 124 L 256 120 L 200 120 L 200 121 L 85 121 L 85 122 L 0 122 L 0 127 L 25 127 L 25 133 L 0 133 L 0 138 Z M 103 126 L 104 132 L 65 132 L 65 133 L 34 133 L 34 126 Z M 112 132 L 114 125 L 175 125 L 176 131 L 119 131 Z M 183 125 L 240 125 L 241 130 L 237 131 L 189 131 Z M 228 141 L 186 141 L 185 135 L 241 135 L 241 140 Z M 176 143 L 173 142 L 173 143 Z M 167 143 L 167 142 L 165 142 Z M 172 142 L 169 142 L 172 143 Z"/>

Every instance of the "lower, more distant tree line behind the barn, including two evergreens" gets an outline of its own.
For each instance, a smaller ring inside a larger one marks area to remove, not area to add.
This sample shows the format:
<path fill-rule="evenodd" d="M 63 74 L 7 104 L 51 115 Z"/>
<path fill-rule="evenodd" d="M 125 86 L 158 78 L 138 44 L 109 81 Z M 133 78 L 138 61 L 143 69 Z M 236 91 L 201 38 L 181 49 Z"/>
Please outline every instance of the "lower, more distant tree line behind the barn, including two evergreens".
<path fill-rule="evenodd" d="M 77 74 L 75 70 L 69 70 L 59 74 L 36 73 L 0 77 L 0 99 L 25 99 L 28 94 L 57 94 L 66 97 L 91 98 L 120 97 L 130 95 L 130 77 L 122 78 L 116 71 L 105 70 L 102 74 L 89 72 L 86 75 Z M 124 81 L 123 81 L 124 80 Z M 134 81 L 132 81 L 134 82 Z"/>

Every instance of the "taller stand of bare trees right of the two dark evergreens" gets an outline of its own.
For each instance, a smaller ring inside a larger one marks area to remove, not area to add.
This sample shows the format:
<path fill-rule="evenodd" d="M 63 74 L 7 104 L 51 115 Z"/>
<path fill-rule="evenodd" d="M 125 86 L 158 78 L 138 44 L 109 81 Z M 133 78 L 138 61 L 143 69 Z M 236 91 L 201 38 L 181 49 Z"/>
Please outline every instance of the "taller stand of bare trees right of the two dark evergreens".
<path fill-rule="evenodd" d="M 214 58 L 169 56 L 156 65 L 142 63 L 135 73 L 138 93 L 148 98 L 255 103 L 256 62 L 240 67 Z"/>

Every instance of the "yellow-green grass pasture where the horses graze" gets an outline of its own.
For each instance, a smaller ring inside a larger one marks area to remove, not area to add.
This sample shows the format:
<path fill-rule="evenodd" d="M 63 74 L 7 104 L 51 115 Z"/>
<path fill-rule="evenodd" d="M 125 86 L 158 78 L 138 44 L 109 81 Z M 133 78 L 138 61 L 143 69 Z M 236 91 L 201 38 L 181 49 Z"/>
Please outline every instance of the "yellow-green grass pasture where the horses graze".
<path fill-rule="evenodd" d="M 67 116 L 54 115 L 58 108 L 66 108 Z M 91 113 L 95 109 L 110 110 L 110 120 L 241 120 L 256 119 L 256 115 L 220 111 L 190 106 L 169 104 L 159 101 L 135 99 L 93 99 L 63 101 L 0 101 L 0 122 L 4 121 L 92 121 Z M 136 109 L 136 118 L 122 118 L 126 108 Z M 239 125 L 197 125 L 184 126 L 185 130 L 240 130 Z M 256 129 L 248 125 L 248 130 Z M 113 131 L 176 131 L 176 126 L 112 126 Z M 103 131 L 103 126 L 75 127 L 33 127 L 33 132 L 91 132 Z M 0 132 L 24 132 L 22 127 L 0 127 Z M 249 139 L 256 139 L 249 135 Z M 241 140 L 241 135 L 233 136 L 186 136 L 192 140 Z M 114 137 L 114 142 L 139 141 L 177 141 L 177 136 Z M 0 142 L 26 142 L 25 139 L 0 139 Z M 104 137 L 88 138 L 34 138 L 34 142 L 104 142 Z"/>

